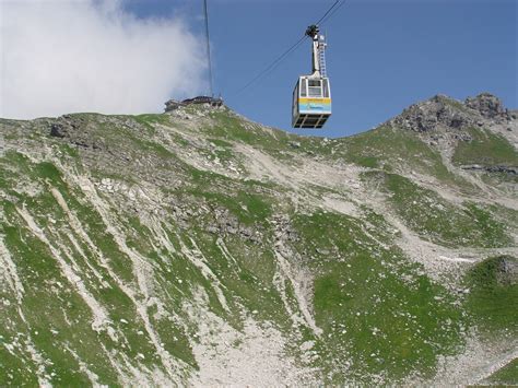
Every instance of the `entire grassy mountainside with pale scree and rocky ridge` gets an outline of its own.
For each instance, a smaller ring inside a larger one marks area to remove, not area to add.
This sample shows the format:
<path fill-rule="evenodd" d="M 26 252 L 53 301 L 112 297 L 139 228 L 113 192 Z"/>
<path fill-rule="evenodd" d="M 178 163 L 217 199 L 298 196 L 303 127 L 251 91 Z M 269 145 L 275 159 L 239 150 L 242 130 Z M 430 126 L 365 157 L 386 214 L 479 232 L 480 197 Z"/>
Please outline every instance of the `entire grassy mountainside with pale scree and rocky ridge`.
<path fill-rule="evenodd" d="M 0 125 L 2 386 L 518 383 L 492 95 L 343 139 L 200 106 Z"/>

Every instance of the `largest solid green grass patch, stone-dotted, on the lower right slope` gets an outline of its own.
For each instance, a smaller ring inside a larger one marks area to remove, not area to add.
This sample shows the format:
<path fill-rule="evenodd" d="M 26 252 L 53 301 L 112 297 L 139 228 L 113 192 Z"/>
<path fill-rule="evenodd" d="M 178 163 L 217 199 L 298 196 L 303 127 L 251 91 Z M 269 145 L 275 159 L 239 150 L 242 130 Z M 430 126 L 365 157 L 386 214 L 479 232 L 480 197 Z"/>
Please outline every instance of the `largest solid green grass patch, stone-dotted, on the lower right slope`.
<path fill-rule="evenodd" d="M 304 242 L 298 249 L 317 273 L 320 349 L 341 361 L 328 364 L 328 383 L 370 384 L 378 374 L 397 381 L 415 371 L 432 376 L 438 354 L 458 351 L 462 317 L 451 296 L 398 249 L 379 246 L 344 215 L 296 215 L 295 226 Z"/>

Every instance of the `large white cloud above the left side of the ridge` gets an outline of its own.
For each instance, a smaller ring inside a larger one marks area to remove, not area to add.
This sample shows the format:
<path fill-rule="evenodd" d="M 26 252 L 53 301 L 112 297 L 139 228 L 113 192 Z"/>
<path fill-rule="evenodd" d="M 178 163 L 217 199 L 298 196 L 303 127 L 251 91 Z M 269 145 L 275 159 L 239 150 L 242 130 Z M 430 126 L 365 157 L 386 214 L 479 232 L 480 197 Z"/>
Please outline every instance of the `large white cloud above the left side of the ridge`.
<path fill-rule="evenodd" d="M 203 47 L 179 20 L 115 0 L 0 0 L 0 117 L 161 111 L 204 90 Z"/>

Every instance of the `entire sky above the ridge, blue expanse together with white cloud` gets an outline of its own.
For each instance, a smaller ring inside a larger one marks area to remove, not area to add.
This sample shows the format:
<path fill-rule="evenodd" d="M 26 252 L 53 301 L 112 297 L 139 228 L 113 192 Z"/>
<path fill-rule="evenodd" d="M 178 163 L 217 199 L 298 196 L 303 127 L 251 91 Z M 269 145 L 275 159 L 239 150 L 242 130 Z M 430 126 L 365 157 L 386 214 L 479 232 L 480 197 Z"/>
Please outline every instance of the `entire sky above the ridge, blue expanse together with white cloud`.
<path fill-rule="evenodd" d="M 333 2 L 209 0 L 215 92 L 239 114 L 291 130 L 309 40 L 237 91 Z M 517 19 L 516 0 L 345 0 L 322 26 L 333 115 L 323 130 L 298 133 L 357 133 L 438 93 L 487 91 L 518 107 Z M 0 116 L 161 111 L 168 96 L 207 84 L 202 0 L 0 0 Z"/>

